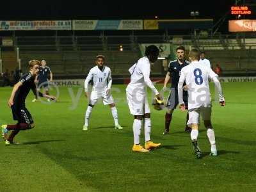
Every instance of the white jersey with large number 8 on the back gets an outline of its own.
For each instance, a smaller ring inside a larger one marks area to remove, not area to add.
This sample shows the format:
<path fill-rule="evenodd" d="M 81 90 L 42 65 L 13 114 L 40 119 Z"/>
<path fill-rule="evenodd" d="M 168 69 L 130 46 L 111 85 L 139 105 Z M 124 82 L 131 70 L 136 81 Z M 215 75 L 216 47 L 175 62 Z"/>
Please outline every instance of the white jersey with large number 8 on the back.
<path fill-rule="evenodd" d="M 200 61 L 193 61 L 182 68 L 180 81 L 188 85 L 188 109 L 211 106 L 211 93 L 208 79 L 218 76 L 211 67 Z"/>

